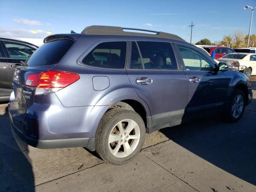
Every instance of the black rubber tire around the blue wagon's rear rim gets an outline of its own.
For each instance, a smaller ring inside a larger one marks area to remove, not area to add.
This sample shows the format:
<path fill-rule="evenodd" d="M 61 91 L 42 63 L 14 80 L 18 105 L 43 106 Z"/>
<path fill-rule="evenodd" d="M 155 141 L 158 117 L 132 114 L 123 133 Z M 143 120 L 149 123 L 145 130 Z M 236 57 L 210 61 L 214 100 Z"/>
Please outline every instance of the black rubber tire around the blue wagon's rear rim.
<path fill-rule="evenodd" d="M 139 130 L 140 130 L 140 139 L 138 141 L 138 145 L 130 155 L 120 158 L 120 157 L 114 156 L 114 154 L 112 154 L 112 152 L 110 151 L 108 138 L 110 133 L 112 132 L 113 127 L 115 127 L 115 125 L 118 122 L 124 119 L 133 120 L 138 124 Z M 146 136 L 145 124 L 138 113 L 132 110 L 124 109 L 124 108 L 114 108 L 106 112 L 103 115 L 102 119 L 100 120 L 100 123 L 96 130 L 95 150 L 97 154 L 105 162 L 108 162 L 114 165 L 125 164 L 131 161 L 140 152 L 144 144 L 145 136 Z"/>

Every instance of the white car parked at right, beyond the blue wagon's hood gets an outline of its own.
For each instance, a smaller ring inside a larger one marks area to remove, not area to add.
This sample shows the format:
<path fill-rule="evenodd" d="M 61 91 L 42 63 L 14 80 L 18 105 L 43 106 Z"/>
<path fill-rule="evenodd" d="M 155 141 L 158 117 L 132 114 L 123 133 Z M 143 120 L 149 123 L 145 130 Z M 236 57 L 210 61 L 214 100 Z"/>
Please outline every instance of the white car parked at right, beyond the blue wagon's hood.
<path fill-rule="evenodd" d="M 256 75 L 256 54 L 230 53 L 218 59 L 219 62 L 228 64 L 232 70 L 244 73 L 248 78 Z"/>

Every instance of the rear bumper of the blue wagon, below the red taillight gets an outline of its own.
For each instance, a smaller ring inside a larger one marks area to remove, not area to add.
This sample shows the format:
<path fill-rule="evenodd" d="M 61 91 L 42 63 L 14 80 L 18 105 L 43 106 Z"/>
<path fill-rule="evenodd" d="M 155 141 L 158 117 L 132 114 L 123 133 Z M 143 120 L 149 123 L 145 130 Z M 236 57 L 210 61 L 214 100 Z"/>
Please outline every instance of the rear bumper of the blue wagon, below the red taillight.
<path fill-rule="evenodd" d="M 94 150 L 98 123 L 109 106 L 64 107 L 55 94 L 42 95 L 22 113 L 10 100 L 10 124 L 27 144 L 36 148 L 85 147 Z"/>

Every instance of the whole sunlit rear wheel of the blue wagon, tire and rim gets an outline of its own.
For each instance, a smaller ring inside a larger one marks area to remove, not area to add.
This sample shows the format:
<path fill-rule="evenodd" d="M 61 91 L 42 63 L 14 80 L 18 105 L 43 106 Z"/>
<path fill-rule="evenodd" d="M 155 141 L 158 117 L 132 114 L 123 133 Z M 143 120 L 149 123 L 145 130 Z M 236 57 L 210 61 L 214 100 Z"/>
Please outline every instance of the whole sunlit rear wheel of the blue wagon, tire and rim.
<path fill-rule="evenodd" d="M 110 164 L 125 164 L 141 150 L 146 128 L 140 115 L 126 109 L 104 114 L 96 131 L 96 152 Z"/>

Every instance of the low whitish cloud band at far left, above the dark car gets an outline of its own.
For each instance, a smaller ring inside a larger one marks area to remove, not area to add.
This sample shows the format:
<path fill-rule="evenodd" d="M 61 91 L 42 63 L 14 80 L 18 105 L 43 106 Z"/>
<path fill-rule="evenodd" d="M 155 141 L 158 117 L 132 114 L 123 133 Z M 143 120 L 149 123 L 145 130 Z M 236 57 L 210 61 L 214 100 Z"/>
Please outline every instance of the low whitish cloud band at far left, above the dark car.
<path fill-rule="evenodd" d="M 42 35 L 43 34 L 43 35 Z M 24 38 L 38 38 L 38 36 L 44 37 L 46 34 L 43 30 L 37 30 L 37 34 L 33 34 L 32 30 L 27 30 L 24 28 L 1 28 L 0 27 L 0 36 L 5 37 L 24 37 Z"/>

